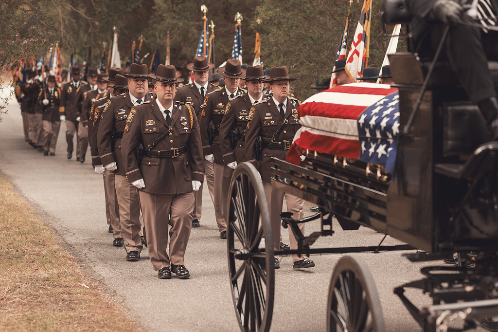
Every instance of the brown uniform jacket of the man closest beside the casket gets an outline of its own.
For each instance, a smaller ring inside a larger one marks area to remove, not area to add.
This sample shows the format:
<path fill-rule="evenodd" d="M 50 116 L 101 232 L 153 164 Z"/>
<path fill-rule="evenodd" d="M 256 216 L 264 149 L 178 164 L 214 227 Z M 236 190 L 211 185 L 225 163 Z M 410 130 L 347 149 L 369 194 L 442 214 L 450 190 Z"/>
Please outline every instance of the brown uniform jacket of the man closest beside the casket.
<path fill-rule="evenodd" d="M 249 122 L 246 129 L 246 161 L 259 169 L 263 181 L 269 182 L 271 178 L 270 158 L 275 157 L 285 160 L 288 150 L 263 149 L 262 158 L 256 163 L 256 155 L 254 153 L 256 138 L 261 136 L 263 142 L 271 142 L 271 138 L 275 132 L 282 126 L 284 120 L 287 119 L 288 123 L 283 127 L 280 134 L 275 137 L 273 142 L 283 142 L 285 140 L 292 143 L 294 135 L 301 128 L 299 115 L 297 114 L 297 108 L 300 103 L 297 99 L 287 98 L 287 109 L 285 110 L 284 119 L 282 119 L 280 112 L 278 112 L 273 98 L 254 104 L 250 110 Z"/>

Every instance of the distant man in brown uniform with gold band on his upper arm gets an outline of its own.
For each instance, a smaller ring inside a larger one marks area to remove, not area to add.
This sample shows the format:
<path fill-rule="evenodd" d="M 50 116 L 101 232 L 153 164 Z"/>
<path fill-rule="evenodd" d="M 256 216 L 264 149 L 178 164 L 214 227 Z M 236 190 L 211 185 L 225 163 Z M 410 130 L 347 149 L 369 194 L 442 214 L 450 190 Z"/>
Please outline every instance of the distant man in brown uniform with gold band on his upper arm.
<path fill-rule="evenodd" d="M 62 86 L 61 103 L 59 106 L 60 120 L 66 122 L 66 142 L 67 142 L 67 159 L 73 157 L 73 139 L 78 128 L 76 118 L 79 116 L 79 104 L 83 101 L 83 92 L 88 89 L 86 82 L 80 80 L 80 67 L 71 68 L 71 82 Z M 76 157 L 81 157 L 80 141 L 76 143 Z M 79 161 L 79 159 L 76 159 Z"/>

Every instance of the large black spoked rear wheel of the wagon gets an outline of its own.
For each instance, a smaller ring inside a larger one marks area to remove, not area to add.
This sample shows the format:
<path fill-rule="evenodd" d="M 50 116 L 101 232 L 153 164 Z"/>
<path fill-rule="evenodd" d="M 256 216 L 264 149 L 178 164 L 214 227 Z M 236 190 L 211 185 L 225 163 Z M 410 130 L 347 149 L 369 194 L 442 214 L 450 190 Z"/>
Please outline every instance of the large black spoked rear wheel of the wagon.
<path fill-rule="evenodd" d="M 273 313 L 273 241 L 266 196 L 254 166 L 242 163 L 236 168 L 229 193 L 228 263 L 237 320 L 241 331 L 267 332 Z"/>

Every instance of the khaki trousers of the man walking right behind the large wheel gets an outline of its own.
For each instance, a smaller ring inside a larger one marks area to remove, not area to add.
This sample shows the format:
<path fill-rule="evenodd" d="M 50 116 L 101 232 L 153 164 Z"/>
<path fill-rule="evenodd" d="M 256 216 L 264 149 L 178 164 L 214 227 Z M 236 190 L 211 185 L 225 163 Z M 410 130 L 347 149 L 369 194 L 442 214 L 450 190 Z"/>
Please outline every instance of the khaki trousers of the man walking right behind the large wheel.
<path fill-rule="evenodd" d="M 292 212 L 292 218 L 296 220 L 304 217 L 304 199 L 276 189 L 271 186 L 270 182 L 263 181 L 263 187 L 266 199 L 268 200 L 268 207 L 270 209 L 273 250 L 278 250 L 280 249 L 280 225 L 282 224 L 280 213 L 282 212 L 283 198 L 285 197 L 285 202 L 287 203 L 287 212 Z M 290 226 L 288 229 L 290 249 L 297 249 L 297 240 L 294 236 L 294 232 Z M 299 224 L 299 229 L 304 234 L 304 223 Z M 292 260 L 294 262 L 302 259 L 304 259 L 302 256 L 298 257 L 297 255 L 292 255 Z"/>

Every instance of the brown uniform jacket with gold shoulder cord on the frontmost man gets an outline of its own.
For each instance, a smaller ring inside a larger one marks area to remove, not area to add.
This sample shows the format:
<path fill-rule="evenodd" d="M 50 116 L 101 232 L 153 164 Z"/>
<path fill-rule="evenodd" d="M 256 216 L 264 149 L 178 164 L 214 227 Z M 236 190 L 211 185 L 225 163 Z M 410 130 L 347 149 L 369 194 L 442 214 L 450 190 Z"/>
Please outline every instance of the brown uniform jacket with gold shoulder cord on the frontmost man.
<path fill-rule="evenodd" d="M 130 182 L 143 178 L 145 188 L 153 194 L 183 194 L 192 191 L 192 180 L 203 181 L 204 158 L 202 155 L 199 124 L 193 110 L 183 103 L 175 102 L 171 126 L 152 100 L 135 106 L 126 120 L 122 147 L 126 176 Z M 161 135 L 169 135 L 160 141 L 153 151 L 164 151 L 187 147 L 187 152 L 175 158 L 149 158 L 144 156 L 140 165 L 135 158 L 135 148 L 140 144 L 147 148 Z"/>

